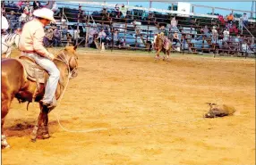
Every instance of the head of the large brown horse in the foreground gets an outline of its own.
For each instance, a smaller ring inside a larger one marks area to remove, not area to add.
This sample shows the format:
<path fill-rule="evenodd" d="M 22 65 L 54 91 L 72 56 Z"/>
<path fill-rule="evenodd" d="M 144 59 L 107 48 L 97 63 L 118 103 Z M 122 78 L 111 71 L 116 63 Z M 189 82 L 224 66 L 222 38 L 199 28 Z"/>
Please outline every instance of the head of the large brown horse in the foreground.
<path fill-rule="evenodd" d="M 56 56 L 56 59 L 62 60 L 66 63 L 66 65 L 72 73 L 72 78 L 77 76 L 78 71 L 78 55 L 76 54 L 76 48 L 77 45 L 66 46 L 64 48 L 64 51 Z"/>

